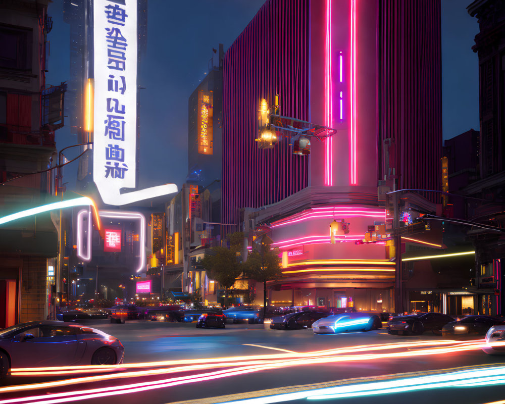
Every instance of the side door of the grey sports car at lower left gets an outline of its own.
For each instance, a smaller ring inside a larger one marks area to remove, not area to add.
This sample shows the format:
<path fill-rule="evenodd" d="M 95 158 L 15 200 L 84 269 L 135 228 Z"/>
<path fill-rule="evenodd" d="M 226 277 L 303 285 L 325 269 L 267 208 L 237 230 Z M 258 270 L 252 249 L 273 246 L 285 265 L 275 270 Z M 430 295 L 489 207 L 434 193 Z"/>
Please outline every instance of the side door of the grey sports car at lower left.
<path fill-rule="evenodd" d="M 75 360 L 77 337 L 70 327 L 39 325 L 14 336 L 12 367 L 65 366 Z"/>

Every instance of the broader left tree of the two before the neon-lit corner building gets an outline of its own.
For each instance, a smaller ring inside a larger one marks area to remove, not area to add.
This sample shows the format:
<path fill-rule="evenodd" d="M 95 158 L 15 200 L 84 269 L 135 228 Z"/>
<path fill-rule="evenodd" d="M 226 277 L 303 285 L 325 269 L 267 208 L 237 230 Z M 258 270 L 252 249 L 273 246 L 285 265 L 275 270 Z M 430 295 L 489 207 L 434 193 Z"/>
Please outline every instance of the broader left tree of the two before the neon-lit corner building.
<path fill-rule="evenodd" d="M 241 250 L 244 234 L 235 232 L 228 234 L 226 238 L 230 248 L 212 247 L 212 254 L 206 254 L 200 264 L 209 272 L 209 278 L 218 281 L 225 288 L 224 305 L 227 307 L 228 289 L 233 286 L 235 279 L 243 272 Z"/>

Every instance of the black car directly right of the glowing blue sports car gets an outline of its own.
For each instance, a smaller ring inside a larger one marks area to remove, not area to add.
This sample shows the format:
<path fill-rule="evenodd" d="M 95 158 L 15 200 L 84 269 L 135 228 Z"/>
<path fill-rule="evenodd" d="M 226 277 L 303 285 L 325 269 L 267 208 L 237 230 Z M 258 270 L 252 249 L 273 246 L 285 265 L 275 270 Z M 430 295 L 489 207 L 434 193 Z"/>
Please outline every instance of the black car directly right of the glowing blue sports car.
<path fill-rule="evenodd" d="M 452 317 L 441 313 L 420 313 L 411 316 L 390 317 L 387 330 L 389 334 L 421 335 L 425 331 L 432 331 L 433 334 L 442 335 L 442 327 L 452 321 L 454 321 Z"/>

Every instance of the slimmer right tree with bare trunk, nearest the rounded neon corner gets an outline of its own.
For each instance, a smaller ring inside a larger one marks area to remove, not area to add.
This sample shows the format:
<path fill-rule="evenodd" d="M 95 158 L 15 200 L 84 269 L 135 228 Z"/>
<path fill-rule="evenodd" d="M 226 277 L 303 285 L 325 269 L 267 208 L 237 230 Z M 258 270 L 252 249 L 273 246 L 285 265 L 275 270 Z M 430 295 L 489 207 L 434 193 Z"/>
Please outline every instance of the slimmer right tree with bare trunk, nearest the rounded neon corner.
<path fill-rule="evenodd" d="M 263 283 L 263 317 L 267 310 L 267 281 L 276 280 L 281 275 L 277 250 L 270 249 L 272 239 L 262 236 L 252 247 L 245 262 L 245 274 L 250 279 Z"/>

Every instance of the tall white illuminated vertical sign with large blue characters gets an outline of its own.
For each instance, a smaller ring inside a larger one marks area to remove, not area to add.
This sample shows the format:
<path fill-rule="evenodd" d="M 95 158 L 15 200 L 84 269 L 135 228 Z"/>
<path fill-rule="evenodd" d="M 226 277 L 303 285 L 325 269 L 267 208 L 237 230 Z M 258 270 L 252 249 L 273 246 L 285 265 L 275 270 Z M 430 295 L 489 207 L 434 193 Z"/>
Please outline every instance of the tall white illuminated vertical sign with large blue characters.
<path fill-rule="evenodd" d="M 106 201 L 135 187 L 137 2 L 94 0 L 93 21 L 93 179 Z"/>

